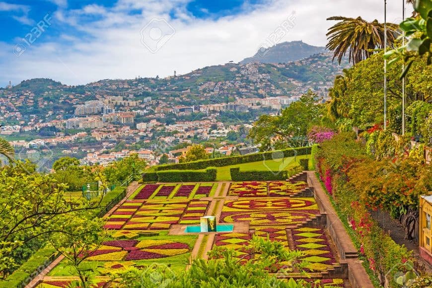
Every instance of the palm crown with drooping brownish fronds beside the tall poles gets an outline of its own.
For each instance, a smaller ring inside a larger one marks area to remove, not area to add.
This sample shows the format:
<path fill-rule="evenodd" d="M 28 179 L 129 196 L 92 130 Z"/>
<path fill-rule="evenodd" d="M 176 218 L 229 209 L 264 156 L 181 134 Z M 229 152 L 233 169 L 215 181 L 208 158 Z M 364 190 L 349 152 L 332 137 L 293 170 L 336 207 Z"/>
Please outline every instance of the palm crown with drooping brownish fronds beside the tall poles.
<path fill-rule="evenodd" d="M 333 59 L 338 58 L 339 64 L 349 49 L 349 61 L 353 64 L 370 57 L 373 49 L 384 47 L 384 23 L 378 20 L 367 22 L 361 17 L 347 18 L 334 16 L 327 20 L 338 20 L 328 29 L 326 48 L 334 51 Z M 399 26 L 387 23 L 387 45 L 392 46 Z"/>

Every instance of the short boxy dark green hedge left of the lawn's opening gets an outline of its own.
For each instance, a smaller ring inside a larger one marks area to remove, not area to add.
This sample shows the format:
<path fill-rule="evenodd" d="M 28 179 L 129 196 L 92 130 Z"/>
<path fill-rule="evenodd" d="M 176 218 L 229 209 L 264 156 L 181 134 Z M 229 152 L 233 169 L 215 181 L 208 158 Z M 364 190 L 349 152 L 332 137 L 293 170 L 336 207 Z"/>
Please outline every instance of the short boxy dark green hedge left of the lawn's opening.
<path fill-rule="evenodd" d="M 216 181 L 217 170 L 209 168 L 205 171 L 169 170 L 156 172 L 158 182 L 200 182 Z M 143 179 L 144 181 L 144 179 Z"/>

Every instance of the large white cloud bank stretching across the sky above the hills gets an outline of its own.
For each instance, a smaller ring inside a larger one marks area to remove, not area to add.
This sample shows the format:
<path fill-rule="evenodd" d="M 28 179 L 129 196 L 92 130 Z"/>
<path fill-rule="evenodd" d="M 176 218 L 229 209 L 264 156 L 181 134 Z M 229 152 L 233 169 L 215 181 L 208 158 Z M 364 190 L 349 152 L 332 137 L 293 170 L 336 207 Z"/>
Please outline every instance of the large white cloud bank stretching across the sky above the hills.
<path fill-rule="evenodd" d="M 259 45 L 293 11 L 295 26 L 281 41 L 303 40 L 325 46 L 326 31 L 335 23 L 326 18 L 335 15 L 360 15 L 366 20 L 383 21 L 382 3 L 375 0 L 365 0 L 361 5 L 356 0 L 311 0 L 308 3 L 275 0 L 249 13 L 217 20 L 194 18 L 186 11 L 185 3 L 186 0 L 145 3 L 119 0 L 111 9 L 90 5 L 81 10 L 57 11 L 58 25 L 68 23 L 82 31 L 83 36 L 65 34 L 60 38 L 67 41 L 60 43 L 56 42 L 58 40 L 39 43 L 38 40 L 19 57 L 12 54 L 10 47 L 10 55 L 0 54 L 2 66 L 7 68 L 0 72 L 0 84 L 5 85 L 9 79 L 17 83 L 34 77 L 53 78 L 67 84 L 138 75 L 162 77 L 172 75 L 174 70 L 181 74 L 230 60 L 238 62 L 254 55 Z M 399 22 L 401 5 L 391 3 L 387 8 L 388 21 Z M 130 9 L 142 12 L 129 14 Z M 180 17 L 171 19 L 169 12 L 173 10 Z M 97 13 L 101 19 L 92 23 L 83 21 L 82 17 L 88 13 Z M 175 28 L 175 34 L 153 54 L 141 43 L 140 30 L 154 17 L 166 19 Z"/>

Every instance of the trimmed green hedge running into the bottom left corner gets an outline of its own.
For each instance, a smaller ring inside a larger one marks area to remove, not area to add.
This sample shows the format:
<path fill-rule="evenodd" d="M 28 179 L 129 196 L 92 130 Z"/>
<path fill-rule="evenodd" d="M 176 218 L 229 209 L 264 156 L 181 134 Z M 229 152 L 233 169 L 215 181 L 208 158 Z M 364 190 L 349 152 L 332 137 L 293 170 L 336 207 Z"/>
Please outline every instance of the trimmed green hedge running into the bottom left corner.
<path fill-rule="evenodd" d="M 0 280 L 0 288 L 25 287 L 58 256 L 54 248 L 39 249 L 6 280 Z"/>

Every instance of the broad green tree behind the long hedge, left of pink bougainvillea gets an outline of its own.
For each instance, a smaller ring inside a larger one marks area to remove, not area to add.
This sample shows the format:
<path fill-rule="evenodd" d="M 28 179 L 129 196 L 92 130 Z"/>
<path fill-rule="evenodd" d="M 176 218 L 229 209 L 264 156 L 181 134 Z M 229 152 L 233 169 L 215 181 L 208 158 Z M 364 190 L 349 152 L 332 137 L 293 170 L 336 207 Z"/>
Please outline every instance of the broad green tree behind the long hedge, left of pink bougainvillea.
<path fill-rule="evenodd" d="M 260 143 L 261 150 L 306 144 L 308 128 L 319 125 L 322 116 L 320 106 L 315 104 L 315 97 L 316 94 L 308 91 L 299 101 L 282 110 L 281 115 L 260 116 L 249 131 L 248 137 L 255 143 Z"/>

